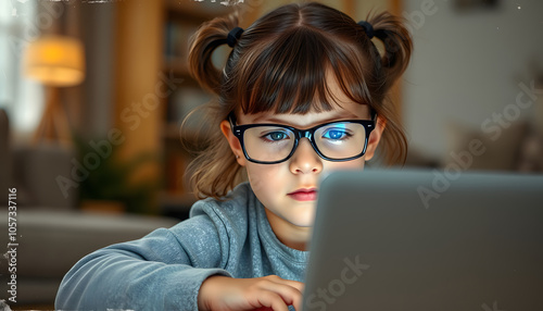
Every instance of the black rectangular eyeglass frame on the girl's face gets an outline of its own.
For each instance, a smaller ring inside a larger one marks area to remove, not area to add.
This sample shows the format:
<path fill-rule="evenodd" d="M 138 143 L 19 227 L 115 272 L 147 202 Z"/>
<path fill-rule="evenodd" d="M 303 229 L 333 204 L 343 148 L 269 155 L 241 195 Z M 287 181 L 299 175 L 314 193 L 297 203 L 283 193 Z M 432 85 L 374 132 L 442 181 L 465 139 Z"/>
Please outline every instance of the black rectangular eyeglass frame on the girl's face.
<path fill-rule="evenodd" d="M 299 129 L 299 128 L 295 128 L 293 126 L 283 125 L 283 124 L 274 124 L 274 123 L 255 123 L 255 124 L 237 125 L 236 121 L 237 121 L 236 120 L 236 114 L 232 111 L 232 112 L 230 112 L 228 114 L 228 122 L 230 123 L 230 129 L 232 130 L 233 136 L 236 136 L 236 138 L 238 138 L 238 140 L 239 140 L 239 142 L 241 145 L 241 149 L 243 150 L 243 156 L 245 157 L 245 159 L 248 161 L 253 162 L 253 163 L 257 163 L 257 164 L 278 164 L 278 163 L 282 163 L 282 162 L 288 161 L 290 158 L 292 158 L 292 156 L 294 156 L 294 152 L 298 149 L 300 140 L 302 138 L 304 138 L 304 137 L 307 138 L 307 140 L 310 141 L 313 150 L 315 150 L 315 152 L 321 159 L 324 159 L 326 161 L 331 161 L 331 162 L 345 162 L 345 161 L 351 161 L 351 160 L 355 160 L 355 159 L 362 158 L 362 157 L 364 157 L 364 154 L 366 154 L 366 150 L 367 150 L 367 147 L 368 147 L 369 135 L 371 134 L 371 132 L 375 129 L 375 126 L 376 126 L 377 113 L 374 110 L 371 110 L 371 120 L 340 120 L 340 121 L 330 121 L 330 122 L 326 122 L 326 123 L 323 123 L 323 124 L 318 124 L 318 125 L 313 126 L 313 127 L 307 128 L 307 129 Z M 364 129 L 366 132 L 366 138 L 365 138 L 365 141 L 364 141 L 364 149 L 362 150 L 362 152 L 359 154 L 356 154 L 356 156 L 353 156 L 353 157 L 350 157 L 350 158 L 345 158 L 345 159 L 334 159 L 334 158 L 328 158 L 328 157 L 326 157 L 318 149 L 318 146 L 317 146 L 317 144 L 315 141 L 315 137 L 314 137 L 315 132 L 318 128 L 323 127 L 323 126 L 326 126 L 326 125 L 329 125 L 329 124 L 333 124 L 333 123 L 340 123 L 340 122 L 341 123 L 357 123 L 357 124 L 361 124 L 362 126 L 364 126 Z M 278 161 L 258 161 L 258 160 L 255 160 L 255 159 L 252 159 L 251 157 L 249 157 L 249 153 L 245 150 L 245 144 L 244 144 L 243 134 L 249 128 L 261 127 L 261 126 L 277 126 L 277 127 L 289 129 L 290 132 L 292 132 L 294 134 L 294 145 L 292 146 L 292 150 L 290 151 L 289 156 L 287 156 L 285 159 L 278 160 Z"/>

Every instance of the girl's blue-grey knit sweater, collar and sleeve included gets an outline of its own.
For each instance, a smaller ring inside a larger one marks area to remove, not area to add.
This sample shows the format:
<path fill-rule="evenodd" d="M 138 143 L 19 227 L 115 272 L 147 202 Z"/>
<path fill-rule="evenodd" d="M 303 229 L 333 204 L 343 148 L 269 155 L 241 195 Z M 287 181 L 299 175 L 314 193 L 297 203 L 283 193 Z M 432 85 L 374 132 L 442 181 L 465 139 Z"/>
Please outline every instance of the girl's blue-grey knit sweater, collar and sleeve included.
<path fill-rule="evenodd" d="M 302 282 L 308 259 L 281 244 L 248 183 L 229 200 L 197 202 L 174 227 L 94 251 L 64 276 L 58 310 L 198 310 L 211 275 Z"/>

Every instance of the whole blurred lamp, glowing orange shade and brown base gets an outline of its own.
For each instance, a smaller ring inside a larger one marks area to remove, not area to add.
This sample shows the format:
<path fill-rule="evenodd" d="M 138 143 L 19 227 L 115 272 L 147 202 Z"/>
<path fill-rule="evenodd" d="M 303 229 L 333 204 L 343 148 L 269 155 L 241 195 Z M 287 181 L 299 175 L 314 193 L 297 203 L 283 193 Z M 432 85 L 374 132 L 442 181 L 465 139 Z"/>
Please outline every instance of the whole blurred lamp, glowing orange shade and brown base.
<path fill-rule="evenodd" d="M 34 141 L 70 141 L 70 124 L 59 99 L 59 87 L 75 86 L 85 78 L 85 55 L 76 38 L 48 35 L 29 43 L 23 61 L 24 74 L 46 86 L 47 101 Z"/>

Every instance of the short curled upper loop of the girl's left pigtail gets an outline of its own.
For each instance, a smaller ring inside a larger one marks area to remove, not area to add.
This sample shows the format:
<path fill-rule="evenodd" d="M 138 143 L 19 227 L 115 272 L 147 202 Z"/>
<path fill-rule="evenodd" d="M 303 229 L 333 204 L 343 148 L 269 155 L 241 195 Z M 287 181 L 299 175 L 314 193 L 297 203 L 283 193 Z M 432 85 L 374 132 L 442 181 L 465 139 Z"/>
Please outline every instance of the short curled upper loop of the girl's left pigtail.
<path fill-rule="evenodd" d="M 216 17 L 202 24 L 190 38 L 189 70 L 200 85 L 218 95 L 223 71 L 212 62 L 216 48 L 227 43 L 228 33 L 238 26 L 237 14 Z"/>

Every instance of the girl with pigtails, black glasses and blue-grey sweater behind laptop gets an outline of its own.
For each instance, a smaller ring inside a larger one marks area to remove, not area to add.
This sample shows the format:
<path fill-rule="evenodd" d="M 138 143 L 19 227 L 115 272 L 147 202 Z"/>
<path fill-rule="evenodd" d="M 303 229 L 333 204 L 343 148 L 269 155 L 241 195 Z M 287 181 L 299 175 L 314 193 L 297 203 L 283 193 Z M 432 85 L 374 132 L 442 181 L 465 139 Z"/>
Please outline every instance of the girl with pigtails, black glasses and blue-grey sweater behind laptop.
<path fill-rule="evenodd" d="M 192 164 L 205 199 L 169 229 L 85 257 L 64 277 L 58 309 L 300 310 L 319 179 L 364 167 L 380 141 L 389 163 L 404 160 L 387 101 L 412 51 L 399 20 L 356 23 L 304 3 L 237 26 L 215 18 L 190 49 L 193 75 L 218 95 L 213 142 Z M 216 69 L 212 53 L 225 43 L 232 51 Z"/>

